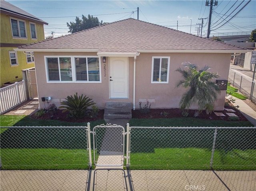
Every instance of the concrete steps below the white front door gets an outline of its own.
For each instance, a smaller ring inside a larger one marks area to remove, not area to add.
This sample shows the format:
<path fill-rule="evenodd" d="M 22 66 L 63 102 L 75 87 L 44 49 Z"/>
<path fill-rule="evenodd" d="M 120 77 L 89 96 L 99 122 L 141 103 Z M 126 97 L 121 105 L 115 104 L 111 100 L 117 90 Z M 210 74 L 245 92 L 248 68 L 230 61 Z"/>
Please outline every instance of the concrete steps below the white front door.
<path fill-rule="evenodd" d="M 107 102 L 104 119 L 132 118 L 132 104 L 130 102 Z"/>

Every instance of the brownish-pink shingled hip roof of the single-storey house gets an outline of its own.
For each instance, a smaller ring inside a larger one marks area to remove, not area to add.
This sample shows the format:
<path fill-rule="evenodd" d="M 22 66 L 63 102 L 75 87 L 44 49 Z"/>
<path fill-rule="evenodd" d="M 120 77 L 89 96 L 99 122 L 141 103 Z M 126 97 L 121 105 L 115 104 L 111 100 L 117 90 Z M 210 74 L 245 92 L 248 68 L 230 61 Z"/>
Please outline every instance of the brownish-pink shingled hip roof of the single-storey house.
<path fill-rule="evenodd" d="M 33 51 L 243 53 L 248 50 L 135 19 L 90 28 L 63 37 L 24 45 Z"/>

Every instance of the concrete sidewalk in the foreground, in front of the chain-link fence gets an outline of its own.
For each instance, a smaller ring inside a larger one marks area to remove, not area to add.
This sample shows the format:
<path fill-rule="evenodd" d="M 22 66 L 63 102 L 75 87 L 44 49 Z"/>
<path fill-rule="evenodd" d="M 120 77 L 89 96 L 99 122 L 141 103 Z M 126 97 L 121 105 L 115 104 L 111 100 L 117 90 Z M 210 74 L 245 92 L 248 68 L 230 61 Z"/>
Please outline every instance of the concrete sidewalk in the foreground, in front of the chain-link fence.
<path fill-rule="evenodd" d="M 0 172 L 1 191 L 255 191 L 256 171 L 56 170 Z"/>

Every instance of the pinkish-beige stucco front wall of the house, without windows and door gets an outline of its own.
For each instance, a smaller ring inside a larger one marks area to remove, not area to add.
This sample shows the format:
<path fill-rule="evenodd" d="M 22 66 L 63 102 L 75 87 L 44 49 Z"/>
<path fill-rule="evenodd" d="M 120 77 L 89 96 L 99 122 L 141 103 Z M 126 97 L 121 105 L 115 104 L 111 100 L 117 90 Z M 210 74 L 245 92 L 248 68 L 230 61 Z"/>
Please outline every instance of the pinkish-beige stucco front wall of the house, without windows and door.
<path fill-rule="evenodd" d="M 128 99 L 110 99 L 109 98 L 109 58 L 106 57 L 106 63 L 102 63 L 101 74 L 102 83 L 47 83 L 44 55 L 87 55 L 96 56 L 96 53 L 39 53 L 34 52 L 36 63 L 36 76 L 38 83 L 38 96 L 40 108 L 46 108 L 48 104 L 41 101 L 41 97 L 51 96 L 51 103 L 60 106 L 60 101 L 68 95 L 86 95 L 93 98 L 96 105 L 102 109 L 106 102 L 133 102 L 133 64 L 134 58 L 129 57 L 129 96 Z M 170 56 L 170 75 L 168 84 L 151 83 L 152 56 Z M 212 67 L 212 72 L 218 72 L 219 79 L 228 79 L 231 53 L 140 53 L 136 59 L 136 96 L 135 106 L 139 108 L 139 102 L 142 104 L 146 100 L 152 103 L 151 108 L 179 108 L 179 102 L 183 88 L 175 89 L 176 82 L 181 79 L 179 72 L 175 70 L 182 67 L 182 62 L 190 62 L 202 67 L 208 65 Z M 106 64 L 106 77 L 104 77 L 104 64 Z M 221 95 L 214 105 L 215 110 L 224 109 L 226 91 L 221 91 Z M 196 109 L 196 106 L 192 106 Z"/>

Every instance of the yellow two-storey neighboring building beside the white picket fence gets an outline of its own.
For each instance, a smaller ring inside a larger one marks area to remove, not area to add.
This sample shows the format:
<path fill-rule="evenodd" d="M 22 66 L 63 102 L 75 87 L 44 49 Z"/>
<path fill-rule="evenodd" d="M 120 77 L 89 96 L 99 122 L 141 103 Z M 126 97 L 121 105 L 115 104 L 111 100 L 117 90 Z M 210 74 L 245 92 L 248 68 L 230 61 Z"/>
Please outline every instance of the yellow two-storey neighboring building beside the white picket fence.
<path fill-rule="evenodd" d="M 44 40 L 48 23 L 4 1 L 0 1 L 0 84 L 22 80 L 22 70 L 34 67 L 34 56 L 13 49 Z"/>

